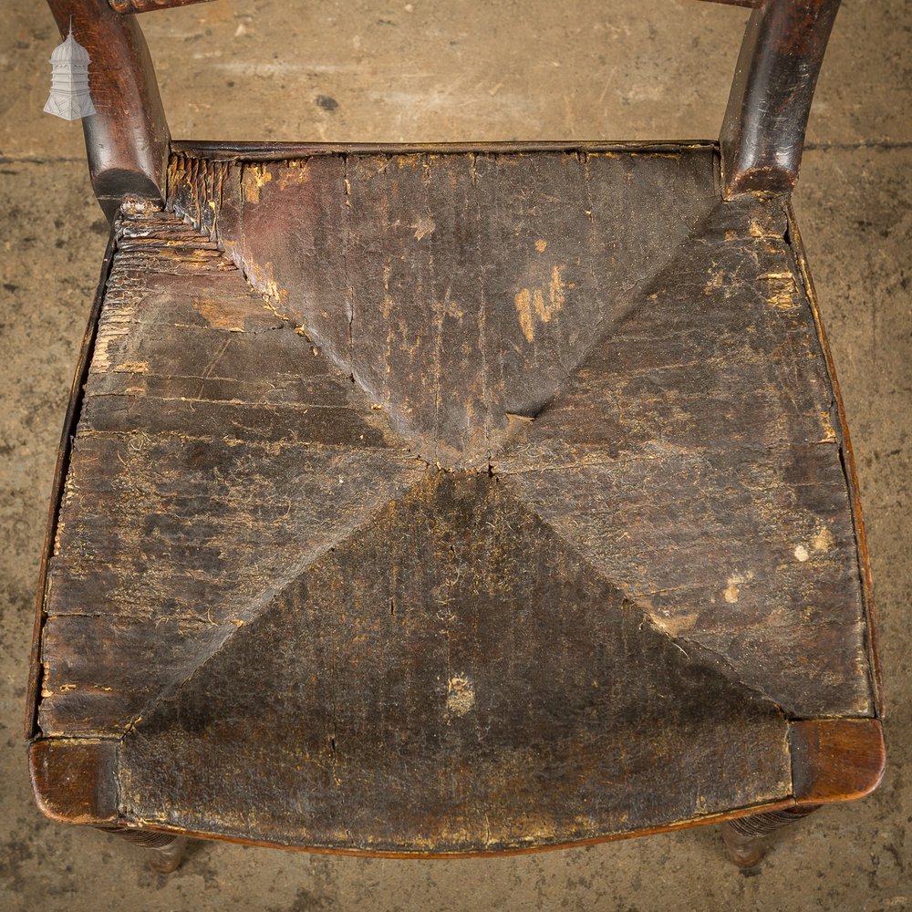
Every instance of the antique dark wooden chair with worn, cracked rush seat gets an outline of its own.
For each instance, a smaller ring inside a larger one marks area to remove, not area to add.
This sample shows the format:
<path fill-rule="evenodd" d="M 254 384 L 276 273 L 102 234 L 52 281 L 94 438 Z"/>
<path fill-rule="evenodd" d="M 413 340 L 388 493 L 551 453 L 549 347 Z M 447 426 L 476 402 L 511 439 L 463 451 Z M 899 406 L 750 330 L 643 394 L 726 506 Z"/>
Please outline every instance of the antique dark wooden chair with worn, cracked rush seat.
<path fill-rule="evenodd" d="M 172 141 L 91 54 L 111 222 L 28 738 L 57 820 L 452 856 L 884 768 L 855 472 L 790 193 L 837 0 L 753 0 L 719 143 Z M 168 845 L 171 844 L 171 845 Z"/>

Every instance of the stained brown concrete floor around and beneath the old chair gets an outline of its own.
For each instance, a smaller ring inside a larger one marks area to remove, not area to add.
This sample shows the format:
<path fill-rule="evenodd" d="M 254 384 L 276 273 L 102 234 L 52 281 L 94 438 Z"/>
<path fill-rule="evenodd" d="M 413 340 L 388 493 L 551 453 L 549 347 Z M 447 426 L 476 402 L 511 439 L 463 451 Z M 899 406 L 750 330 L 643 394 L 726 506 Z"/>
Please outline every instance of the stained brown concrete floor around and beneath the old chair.
<path fill-rule="evenodd" d="M 178 137 L 639 139 L 715 135 L 745 15 L 688 0 L 220 0 L 142 23 Z M 910 24 L 908 0 L 845 0 L 797 192 L 874 565 L 890 763 L 881 789 L 793 827 L 759 876 L 728 865 L 710 827 L 461 862 L 199 843 L 166 878 L 129 845 L 47 822 L 26 775 L 47 497 L 107 226 L 78 124 L 41 113 L 51 17 L 37 2 L 3 5 L 0 907 L 912 909 Z"/>

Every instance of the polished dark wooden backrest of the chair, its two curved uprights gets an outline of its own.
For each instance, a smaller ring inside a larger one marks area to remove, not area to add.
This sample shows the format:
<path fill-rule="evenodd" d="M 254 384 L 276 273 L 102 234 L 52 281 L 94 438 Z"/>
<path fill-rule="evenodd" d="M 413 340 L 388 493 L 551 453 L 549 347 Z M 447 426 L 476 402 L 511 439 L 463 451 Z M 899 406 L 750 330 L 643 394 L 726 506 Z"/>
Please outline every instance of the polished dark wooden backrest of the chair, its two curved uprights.
<path fill-rule="evenodd" d="M 130 198 L 161 203 L 171 137 L 132 14 L 209 0 L 47 0 L 66 35 L 72 17 L 91 56 L 97 113 L 84 119 L 88 166 L 109 219 Z M 726 197 L 790 192 L 811 100 L 840 0 L 706 0 L 753 9 L 720 135 Z"/>

